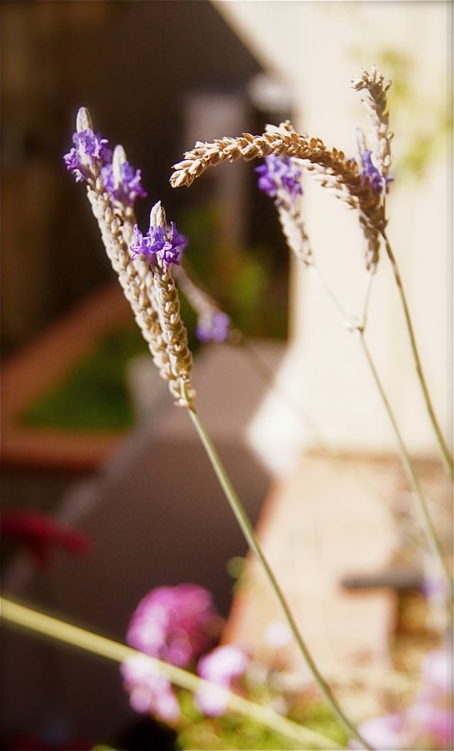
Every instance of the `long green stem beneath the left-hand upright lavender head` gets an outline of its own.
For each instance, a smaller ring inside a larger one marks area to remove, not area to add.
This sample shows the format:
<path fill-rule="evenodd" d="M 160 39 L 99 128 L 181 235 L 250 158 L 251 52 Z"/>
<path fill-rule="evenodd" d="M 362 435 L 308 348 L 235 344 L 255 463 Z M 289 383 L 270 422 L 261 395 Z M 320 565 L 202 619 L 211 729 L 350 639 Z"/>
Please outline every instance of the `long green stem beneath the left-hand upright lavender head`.
<path fill-rule="evenodd" d="M 368 743 L 365 742 L 355 726 L 350 722 L 347 716 L 345 716 L 344 712 L 341 710 L 341 707 L 339 706 L 339 704 L 337 704 L 337 700 L 336 698 L 334 698 L 334 695 L 332 694 L 328 683 L 326 683 L 325 679 L 322 677 L 322 674 L 319 673 L 319 669 L 316 667 L 316 664 L 313 661 L 313 657 L 311 656 L 306 644 L 304 643 L 303 638 L 301 637 L 300 632 L 298 631 L 298 626 L 295 623 L 295 620 L 289 609 L 289 605 L 287 605 L 286 599 L 284 598 L 280 586 L 277 583 L 277 579 L 274 577 L 274 573 L 272 572 L 268 564 L 268 560 L 265 558 L 265 554 L 262 552 L 262 548 L 259 545 L 256 534 L 253 530 L 253 526 L 251 525 L 250 520 L 247 517 L 247 513 L 244 510 L 244 507 L 241 504 L 237 493 L 235 492 L 229 475 L 227 475 L 224 467 L 222 466 L 222 462 L 219 458 L 216 448 L 214 447 L 210 436 L 205 430 L 200 415 L 198 415 L 198 412 L 194 406 L 191 406 L 189 408 L 189 415 L 192 419 L 192 423 L 195 426 L 195 430 L 197 430 L 198 436 L 201 440 L 201 444 L 203 445 L 204 450 L 206 451 L 207 457 L 210 460 L 213 471 L 215 472 L 216 477 L 219 480 L 219 484 L 224 491 L 225 498 L 228 500 L 230 508 L 232 508 L 233 514 L 238 521 L 241 532 L 243 532 L 244 538 L 246 539 L 250 550 L 253 551 L 256 558 L 259 560 L 259 563 L 261 564 L 262 569 L 265 572 L 266 578 L 268 579 L 272 589 L 274 590 L 274 594 L 276 595 L 277 600 L 280 603 L 280 607 L 283 610 L 283 614 L 286 617 L 287 623 L 289 624 L 295 641 L 298 644 L 299 649 L 301 650 L 304 661 L 306 662 L 307 667 L 309 668 L 310 673 L 313 676 L 313 680 L 316 682 L 320 691 L 324 695 L 325 700 L 331 707 L 332 712 L 335 716 L 337 716 L 337 719 L 339 719 L 339 721 L 344 725 L 344 727 L 353 737 L 356 737 L 356 739 L 359 740 L 359 743 L 362 743 L 365 749 L 372 751 L 371 746 L 369 746 Z"/>

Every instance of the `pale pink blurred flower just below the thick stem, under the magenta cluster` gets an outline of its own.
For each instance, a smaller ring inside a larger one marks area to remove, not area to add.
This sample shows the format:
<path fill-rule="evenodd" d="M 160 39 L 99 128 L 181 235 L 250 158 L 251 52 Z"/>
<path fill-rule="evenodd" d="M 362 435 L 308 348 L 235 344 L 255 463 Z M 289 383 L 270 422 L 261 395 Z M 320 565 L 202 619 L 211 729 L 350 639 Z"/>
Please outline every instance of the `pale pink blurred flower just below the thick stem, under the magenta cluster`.
<path fill-rule="evenodd" d="M 165 722 L 174 722 L 180 716 L 171 683 L 160 675 L 145 656 L 136 655 L 121 665 L 124 687 L 129 692 L 129 704 L 135 712 L 151 713 Z"/>

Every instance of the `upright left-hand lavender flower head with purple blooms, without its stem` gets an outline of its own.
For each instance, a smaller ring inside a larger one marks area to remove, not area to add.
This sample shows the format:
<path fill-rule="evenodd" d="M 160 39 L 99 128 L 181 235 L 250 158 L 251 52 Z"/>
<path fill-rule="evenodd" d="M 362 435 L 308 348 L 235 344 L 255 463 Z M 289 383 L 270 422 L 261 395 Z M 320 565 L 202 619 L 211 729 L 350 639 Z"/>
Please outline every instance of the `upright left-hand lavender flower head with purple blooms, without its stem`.
<path fill-rule="evenodd" d="M 132 259 L 129 252 L 136 223 L 132 202 L 142 194 L 140 173 L 129 167 L 121 146 L 116 149 L 115 164 L 111 164 L 112 152 L 107 149 L 107 141 L 93 133 L 92 121 L 85 108 L 77 113 L 76 128 L 74 148 L 65 155 L 65 162 L 77 180 L 87 183 L 86 195 L 98 222 L 107 256 L 118 274 L 160 375 L 168 382 L 175 402 L 179 406 L 190 406 L 195 398 L 190 383 L 192 355 L 169 265 L 165 263 L 165 258 L 158 258 L 156 254 L 156 264 L 150 267 L 144 258 Z M 104 170 L 104 179 L 110 189 L 104 184 L 101 174 L 107 165 L 110 165 L 110 169 L 107 176 Z M 170 230 L 163 225 L 162 231 L 168 232 L 170 244 L 173 242 L 179 250 L 182 249 L 184 243 L 174 225 Z M 168 251 L 165 244 L 161 251 Z"/>

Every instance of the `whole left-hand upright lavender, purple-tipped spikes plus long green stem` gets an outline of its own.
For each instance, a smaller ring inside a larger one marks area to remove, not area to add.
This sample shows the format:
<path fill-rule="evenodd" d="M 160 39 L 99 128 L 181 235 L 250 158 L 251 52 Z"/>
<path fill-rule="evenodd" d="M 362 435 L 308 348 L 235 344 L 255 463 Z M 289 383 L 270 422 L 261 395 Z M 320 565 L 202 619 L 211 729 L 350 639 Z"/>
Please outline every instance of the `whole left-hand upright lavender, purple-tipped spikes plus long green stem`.
<path fill-rule="evenodd" d="M 168 381 L 171 394 L 177 405 L 188 409 L 189 416 L 225 497 L 229 501 L 250 549 L 259 559 L 280 602 L 295 641 L 313 674 L 314 680 L 316 680 L 338 719 L 348 728 L 351 734 L 358 738 L 359 742 L 365 743 L 353 723 L 345 716 L 328 683 L 325 682 L 316 667 L 268 560 L 259 545 L 246 511 L 244 511 L 235 488 L 222 466 L 216 448 L 201 421 L 197 409 L 195 409 L 195 390 L 190 382 L 192 357 L 187 347 L 186 329 L 180 318 L 180 305 L 171 272 L 173 264 L 180 264 L 180 254 L 186 240 L 178 233 L 173 222 L 171 222 L 170 227 L 167 225 L 160 202 L 155 204 L 151 210 L 148 233 L 145 236 L 141 234 L 138 225 L 134 223 L 135 218 L 132 212 L 134 198 L 139 195 L 141 190 L 139 187 L 140 180 L 138 179 L 140 176 L 129 166 L 126 170 L 121 170 L 121 165 L 126 163 L 126 156 L 121 146 L 117 146 L 117 149 L 113 152 L 112 170 L 106 170 L 107 165 L 110 164 L 111 152 L 107 150 L 107 141 L 93 133 L 91 119 L 85 108 L 79 110 L 77 115 L 77 131 L 73 140 L 74 148 L 65 156 L 66 164 L 68 169 L 74 173 L 77 181 L 85 180 L 87 182 L 87 195 L 90 204 L 92 204 L 93 213 L 98 219 L 107 255 L 113 269 L 117 271 L 120 284 L 132 305 L 136 321 L 141 327 L 144 338 L 149 343 L 150 351 L 159 367 L 159 372 Z M 108 185 L 113 186 L 115 195 L 104 184 L 103 169 L 104 175 L 107 176 Z M 126 175 L 126 179 L 123 178 L 123 175 Z M 127 255 L 126 247 L 130 255 Z M 144 270 L 145 259 L 149 262 L 151 273 Z M 200 295 L 199 299 L 202 299 Z M 213 321 L 216 320 L 216 315 L 213 315 L 213 303 L 207 297 L 204 298 L 204 303 L 205 309 L 210 312 L 210 326 L 213 328 Z M 204 321 L 203 315 L 201 320 Z"/>

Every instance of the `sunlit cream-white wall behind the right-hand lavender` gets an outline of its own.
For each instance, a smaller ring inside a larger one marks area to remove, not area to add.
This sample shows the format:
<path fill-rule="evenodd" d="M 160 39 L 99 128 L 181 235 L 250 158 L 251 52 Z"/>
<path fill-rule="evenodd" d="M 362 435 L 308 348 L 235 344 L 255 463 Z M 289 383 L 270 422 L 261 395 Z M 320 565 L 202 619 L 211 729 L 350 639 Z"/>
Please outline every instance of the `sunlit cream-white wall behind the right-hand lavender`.
<path fill-rule="evenodd" d="M 410 61 L 393 85 L 396 91 L 401 83 L 414 90 L 391 112 L 395 182 L 388 200 L 389 238 L 404 276 L 434 406 L 447 430 L 451 249 L 446 193 L 452 164 L 446 137 L 422 179 L 405 177 L 398 167 L 413 134 L 437 129 L 440 110 L 448 105 L 449 4 L 215 0 L 213 5 L 269 73 L 289 82 L 295 96 L 295 128 L 322 137 L 326 146 L 336 146 L 347 155 L 354 153 L 355 129 L 362 127 L 367 133 L 368 128 L 359 94 L 350 88 L 353 75 L 379 62 L 380 53 L 386 50 L 397 53 L 403 62 Z M 380 69 L 386 78 L 392 77 L 386 65 Z M 365 282 L 356 216 L 309 177 L 304 207 L 319 268 L 337 289 L 347 313 L 357 314 Z M 301 267 L 292 272 L 291 299 L 293 336 L 284 366 L 287 382 L 328 439 L 349 449 L 392 450 L 395 441 L 389 421 L 359 343 L 342 327 L 316 282 Z M 384 252 L 374 280 L 368 340 L 404 437 L 414 451 L 430 454 L 434 439 L 413 377 L 401 309 Z M 276 409 L 271 412 L 276 433 Z M 262 419 L 262 435 L 263 430 Z"/>

